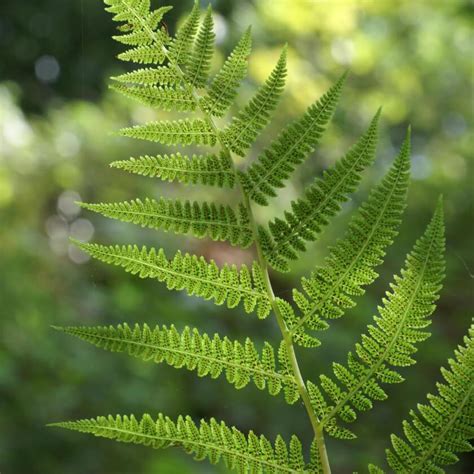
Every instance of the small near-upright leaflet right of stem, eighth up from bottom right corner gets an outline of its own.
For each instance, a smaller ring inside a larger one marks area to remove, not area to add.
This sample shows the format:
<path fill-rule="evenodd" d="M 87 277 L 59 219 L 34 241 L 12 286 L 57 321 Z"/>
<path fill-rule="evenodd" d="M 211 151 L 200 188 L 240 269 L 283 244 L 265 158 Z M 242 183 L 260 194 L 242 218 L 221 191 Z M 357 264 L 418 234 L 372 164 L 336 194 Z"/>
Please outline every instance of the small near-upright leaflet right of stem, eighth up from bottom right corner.
<path fill-rule="evenodd" d="M 201 28 L 196 39 L 194 50 L 190 55 L 186 68 L 187 82 L 191 86 L 204 87 L 211 69 L 212 53 L 214 50 L 214 22 L 212 7 L 209 4 Z"/>

